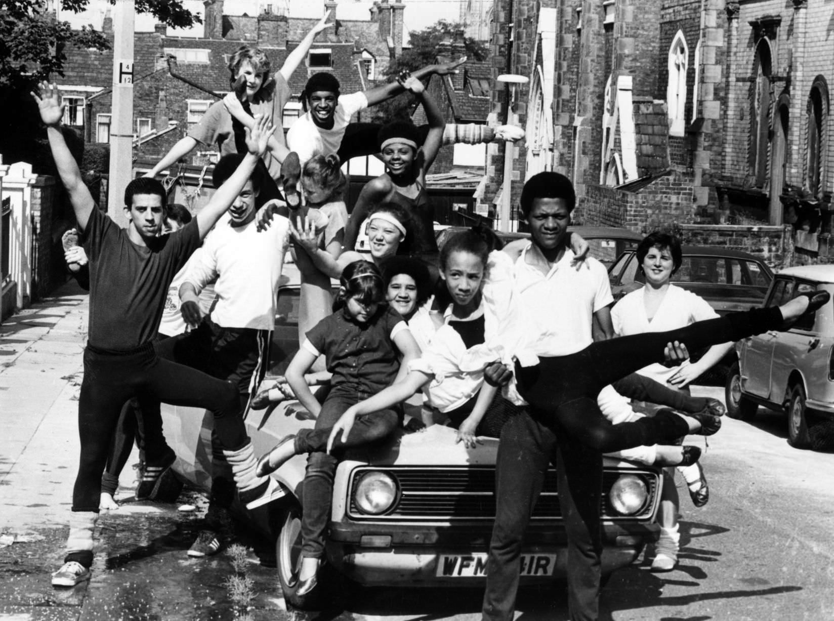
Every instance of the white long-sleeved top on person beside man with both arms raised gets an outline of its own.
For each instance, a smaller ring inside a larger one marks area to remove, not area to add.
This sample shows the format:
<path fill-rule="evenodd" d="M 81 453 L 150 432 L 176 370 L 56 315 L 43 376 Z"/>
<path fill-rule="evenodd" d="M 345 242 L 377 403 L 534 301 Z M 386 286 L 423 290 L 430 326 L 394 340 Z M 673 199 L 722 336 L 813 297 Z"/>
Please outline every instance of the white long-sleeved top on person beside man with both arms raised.
<path fill-rule="evenodd" d="M 201 290 L 215 278 L 217 304 L 211 313 L 223 328 L 272 330 L 275 298 L 284 253 L 289 245 L 289 220 L 274 216 L 263 232 L 258 218 L 243 227 L 219 224 L 203 242 L 203 253 L 186 279 Z"/>

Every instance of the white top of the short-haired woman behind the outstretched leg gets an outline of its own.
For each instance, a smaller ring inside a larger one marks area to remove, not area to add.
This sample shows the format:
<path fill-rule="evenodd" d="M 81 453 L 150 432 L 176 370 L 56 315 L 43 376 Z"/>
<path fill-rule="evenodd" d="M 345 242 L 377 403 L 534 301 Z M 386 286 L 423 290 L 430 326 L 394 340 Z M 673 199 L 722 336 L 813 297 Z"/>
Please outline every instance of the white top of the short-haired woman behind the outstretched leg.
<path fill-rule="evenodd" d="M 614 323 L 615 333 L 620 336 L 631 336 L 631 334 L 644 332 L 667 332 L 677 328 L 686 328 L 691 323 L 718 317 L 718 313 L 704 298 L 671 284 L 666 289 L 666 295 L 650 321 L 646 317 L 644 291 L 645 288 L 632 291 L 611 309 L 611 321 Z M 681 366 L 689 363 L 687 360 Z M 666 368 L 661 363 L 652 363 L 641 368 L 637 373 L 666 384 L 678 368 Z"/>

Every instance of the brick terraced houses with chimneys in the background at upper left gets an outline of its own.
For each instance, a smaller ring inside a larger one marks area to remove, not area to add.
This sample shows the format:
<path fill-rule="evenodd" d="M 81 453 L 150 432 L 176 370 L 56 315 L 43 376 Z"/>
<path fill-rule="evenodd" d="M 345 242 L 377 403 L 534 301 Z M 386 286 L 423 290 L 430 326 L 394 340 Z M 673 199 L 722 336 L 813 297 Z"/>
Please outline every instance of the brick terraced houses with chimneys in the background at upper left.
<path fill-rule="evenodd" d="M 284 14 L 225 15 L 224 0 L 206 0 L 201 38 L 168 37 L 159 24 L 153 33 L 134 34 L 133 131 L 134 160 L 156 161 L 188 128 L 198 123 L 208 106 L 229 91 L 229 55 L 242 43 L 264 49 L 277 71 L 285 58 L 316 23 Z M 325 2 L 326 9 L 336 3 Z M 381 77 L 389 59 L 403 44 L 401 0 L 374 3 L 367 21 L 339 21 L 316 38 L 308 57 L 289 81 L 294 95 L 284 108 L 284 129 L 302 113 L 299 94 L 309 75 L 334 73 L 342 91 L 364 90 Z M 104 19 L 103 32 L 113 38 L 113 22 Z M 86 143 L 106 145 L 111 118 L 113 53 L 67 51 L 60 85 L 68 104 L 65 123 L 83 132 Z M 189 163 L 203 166 L 213 151 L 195 150 Z"/>

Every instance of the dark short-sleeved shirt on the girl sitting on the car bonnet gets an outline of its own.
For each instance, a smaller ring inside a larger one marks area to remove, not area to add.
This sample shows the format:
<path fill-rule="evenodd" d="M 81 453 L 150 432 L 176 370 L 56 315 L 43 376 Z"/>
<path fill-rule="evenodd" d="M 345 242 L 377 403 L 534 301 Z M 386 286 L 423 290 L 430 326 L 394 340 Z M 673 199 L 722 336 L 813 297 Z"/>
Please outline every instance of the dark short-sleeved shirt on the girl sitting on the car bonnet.
<path fill-rule="evenodd" d="M 357 323 L 344 308 L 316 323 L 307 333 L 309 343 L 324 354 L 330 384 L 344 385 L 364 393 L 388 387 L 399 371 L 399 350 L 391 339 L 402 315 L 387 304 L 367 323 Z"/>

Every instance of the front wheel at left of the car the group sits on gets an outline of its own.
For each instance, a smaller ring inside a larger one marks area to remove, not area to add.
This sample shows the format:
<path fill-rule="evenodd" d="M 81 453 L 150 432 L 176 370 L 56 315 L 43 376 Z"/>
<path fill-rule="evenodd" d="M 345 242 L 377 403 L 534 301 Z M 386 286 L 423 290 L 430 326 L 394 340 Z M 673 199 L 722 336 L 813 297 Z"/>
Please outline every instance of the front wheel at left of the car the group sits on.
<path fill-rule="evenodd" d="M 332 582 L 332 568 L 326 563 L 319 568 L 319 584 L 311 593 L 298 597 L 298 579 L 295 568 L 298 567 L 301 555 L 301 505 L 292 503 L 284 513 L 281 532 L 275 541 L 275 560 L 278 565 L 278 580 L 284 601 L 294 608 L 308 609 L 317 607 L 324 602 L 324 595 L 331 594 L 329 583 Z"/>

